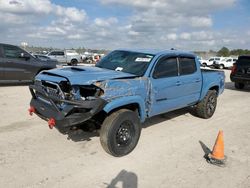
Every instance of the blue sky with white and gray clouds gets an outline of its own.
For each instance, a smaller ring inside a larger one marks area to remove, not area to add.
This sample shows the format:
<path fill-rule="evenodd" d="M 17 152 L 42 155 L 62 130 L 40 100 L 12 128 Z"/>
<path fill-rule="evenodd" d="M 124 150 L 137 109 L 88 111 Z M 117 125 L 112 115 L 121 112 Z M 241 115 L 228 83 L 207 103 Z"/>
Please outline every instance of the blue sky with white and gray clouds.
<path fill-rule="evenodd" d="M 0 0 L 0 43 L 250 49 L 249 0 Z"/>

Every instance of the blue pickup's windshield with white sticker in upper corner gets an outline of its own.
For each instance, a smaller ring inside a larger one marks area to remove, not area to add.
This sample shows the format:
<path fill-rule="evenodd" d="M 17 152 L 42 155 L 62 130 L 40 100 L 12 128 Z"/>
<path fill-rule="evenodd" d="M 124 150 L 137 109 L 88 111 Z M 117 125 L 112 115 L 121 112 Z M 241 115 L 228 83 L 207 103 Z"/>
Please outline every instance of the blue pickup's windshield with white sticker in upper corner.
<path fill-rule="evenodd" d="M 100 60 L 96 67 L 143 76 L 154 55 L 116 50 Z"/>

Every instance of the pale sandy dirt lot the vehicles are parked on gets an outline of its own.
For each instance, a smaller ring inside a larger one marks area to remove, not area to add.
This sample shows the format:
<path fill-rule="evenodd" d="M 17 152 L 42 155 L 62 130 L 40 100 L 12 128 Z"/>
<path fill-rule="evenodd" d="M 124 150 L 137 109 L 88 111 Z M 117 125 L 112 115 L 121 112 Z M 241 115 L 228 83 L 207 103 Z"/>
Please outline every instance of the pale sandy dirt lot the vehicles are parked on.
<path fill-rule="evenodd" d="M 187 111 L 167 113 L 143 124 L 136 149 L 114 158 L 96 133 L 62 135 L 29 116 L 27 86 L 0 87 L 1 187 L 250 187 L 250 89 L 226 90 L 209 120 Z M 224 168 L 203 158 L 224 131 Z"/>

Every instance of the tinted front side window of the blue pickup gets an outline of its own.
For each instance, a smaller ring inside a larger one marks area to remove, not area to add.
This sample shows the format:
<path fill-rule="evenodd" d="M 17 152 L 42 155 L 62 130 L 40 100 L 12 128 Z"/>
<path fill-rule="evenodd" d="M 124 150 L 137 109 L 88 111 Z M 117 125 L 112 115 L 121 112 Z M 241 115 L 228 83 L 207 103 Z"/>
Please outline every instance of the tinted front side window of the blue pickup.
<path fill-rule="evenodd" d="M 178 76 L 178 66 L 176 57 L 165 57 L 158 61 L 155 66 L 153 78 L 167 78 Z"/>

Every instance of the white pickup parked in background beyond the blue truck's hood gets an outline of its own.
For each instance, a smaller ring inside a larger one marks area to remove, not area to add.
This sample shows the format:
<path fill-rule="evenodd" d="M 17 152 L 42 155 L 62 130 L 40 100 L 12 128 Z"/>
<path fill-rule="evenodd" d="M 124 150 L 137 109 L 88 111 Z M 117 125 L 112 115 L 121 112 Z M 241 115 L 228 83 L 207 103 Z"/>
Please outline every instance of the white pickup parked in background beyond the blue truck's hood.
<path fill-rule="evenodd" d="M 75 50 L 51 51 L 48 57 L 57 60 L 59 63 L 67 63 L 68 65 L 77 65 L 81 62 L 81 55 Z"/>

